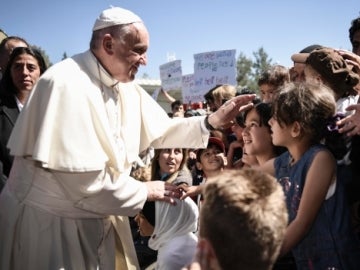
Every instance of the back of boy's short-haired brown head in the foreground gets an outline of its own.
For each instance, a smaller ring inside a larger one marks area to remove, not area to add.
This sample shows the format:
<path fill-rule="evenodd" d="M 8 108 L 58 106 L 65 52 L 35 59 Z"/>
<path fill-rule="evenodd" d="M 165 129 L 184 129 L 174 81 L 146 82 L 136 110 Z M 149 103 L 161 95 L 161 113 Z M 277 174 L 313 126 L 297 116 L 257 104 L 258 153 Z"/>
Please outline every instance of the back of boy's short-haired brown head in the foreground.
<path fill-rule="evenodd" d="M 221 269 L 271 269 L 288 222 L 277 181 L 258 170 L 227 170 L 203 194 L 199 246 L 215 253 L 209 256 Z"/>

